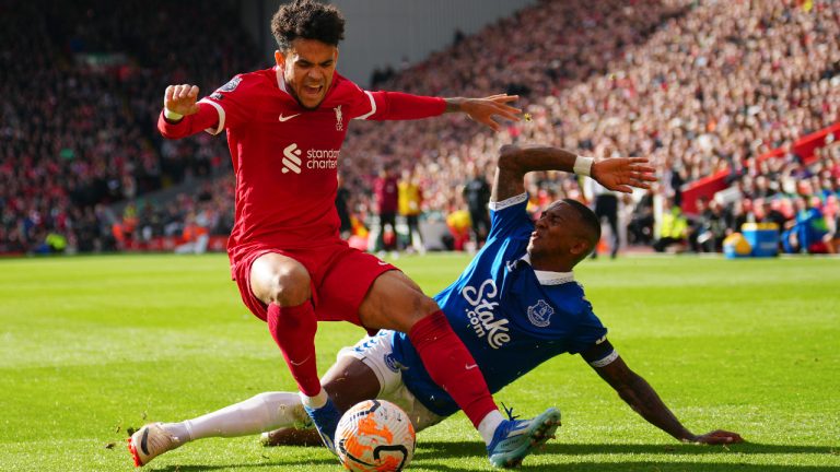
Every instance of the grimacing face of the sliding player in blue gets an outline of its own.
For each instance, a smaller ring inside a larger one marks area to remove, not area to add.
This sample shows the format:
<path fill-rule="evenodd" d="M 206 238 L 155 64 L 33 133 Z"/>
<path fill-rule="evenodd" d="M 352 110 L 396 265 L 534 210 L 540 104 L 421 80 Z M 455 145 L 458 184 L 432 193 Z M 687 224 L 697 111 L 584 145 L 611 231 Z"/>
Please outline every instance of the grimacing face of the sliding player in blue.
<path fill-rule="evenodd" d="M 587 248 L 585 238 L 580 236 L 580 219 L 578 210 L 562 201 L 546 209 L 528 240 L 532 261 L 576 260 Z"/>

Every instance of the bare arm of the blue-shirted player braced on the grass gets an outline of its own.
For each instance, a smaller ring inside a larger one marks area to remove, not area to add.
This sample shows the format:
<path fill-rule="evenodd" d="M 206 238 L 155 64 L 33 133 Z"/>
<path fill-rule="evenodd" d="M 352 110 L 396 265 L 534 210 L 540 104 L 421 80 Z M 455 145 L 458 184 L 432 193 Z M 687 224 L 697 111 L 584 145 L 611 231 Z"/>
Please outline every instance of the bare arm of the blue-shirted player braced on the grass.
<path fill-rule="evenodd" d="M 737 433 L 722 429 L 703 435 L 696 435 L 686 429 L 670 410 L 656 394 L 653 387 L 625 364 L 621 357 L 603 367 L 593 367 L 596 373 L 612 387 L 621 400 L 652 425 L 674 436 L 682 442 L 709 445 L 743 442 Z"/>

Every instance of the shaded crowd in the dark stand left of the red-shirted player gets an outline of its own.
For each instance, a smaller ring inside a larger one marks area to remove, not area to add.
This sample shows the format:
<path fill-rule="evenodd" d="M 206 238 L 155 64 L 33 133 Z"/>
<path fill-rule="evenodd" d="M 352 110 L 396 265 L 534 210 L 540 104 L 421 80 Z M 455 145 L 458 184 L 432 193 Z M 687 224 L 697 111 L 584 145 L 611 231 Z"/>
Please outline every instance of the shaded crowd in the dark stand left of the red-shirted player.
<path fill-rule="evenodd" d="M 229 2 L 3 2 L 0 44 L 0 253 L 118 249 L 108 204 L 229 175 L 223 141 L 154 127 L 168 83 L 256 66 Z"/>

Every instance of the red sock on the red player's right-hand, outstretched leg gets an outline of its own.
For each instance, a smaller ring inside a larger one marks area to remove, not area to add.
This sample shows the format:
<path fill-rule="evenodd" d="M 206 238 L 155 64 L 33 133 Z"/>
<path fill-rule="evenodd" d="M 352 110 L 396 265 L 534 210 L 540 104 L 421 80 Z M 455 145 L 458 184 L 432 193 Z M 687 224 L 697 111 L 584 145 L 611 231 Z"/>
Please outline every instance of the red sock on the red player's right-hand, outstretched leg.
<path fill-rule="evenodd" d="M 485 376 L 472 355 L 452 330 L 446 316 L 438 310 L 418 321 L 408 333 L 429 376 L 466 413 L 475 427 L 491 411 L 498 410 L 487 388 Z"/>

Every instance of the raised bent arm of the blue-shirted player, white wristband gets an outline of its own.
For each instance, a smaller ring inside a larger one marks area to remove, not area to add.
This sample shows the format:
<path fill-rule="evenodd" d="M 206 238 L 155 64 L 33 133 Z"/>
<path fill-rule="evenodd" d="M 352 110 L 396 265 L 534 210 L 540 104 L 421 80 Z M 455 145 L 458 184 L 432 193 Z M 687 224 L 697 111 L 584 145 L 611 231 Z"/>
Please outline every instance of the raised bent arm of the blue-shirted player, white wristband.
<path fill-rule="evenodd" d="M 604 187 L 630 192 L 632 187 L 650 188 L 656 181 L 655 169 L 644 157 L 597 158 L 583 157 L 559 148 L 501 149 L 495 168 L 491 201 L 502 201 L 525 191 L 523 178 L 535 170 L 562 170 L 588 175 Z"/>

